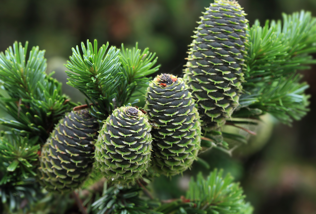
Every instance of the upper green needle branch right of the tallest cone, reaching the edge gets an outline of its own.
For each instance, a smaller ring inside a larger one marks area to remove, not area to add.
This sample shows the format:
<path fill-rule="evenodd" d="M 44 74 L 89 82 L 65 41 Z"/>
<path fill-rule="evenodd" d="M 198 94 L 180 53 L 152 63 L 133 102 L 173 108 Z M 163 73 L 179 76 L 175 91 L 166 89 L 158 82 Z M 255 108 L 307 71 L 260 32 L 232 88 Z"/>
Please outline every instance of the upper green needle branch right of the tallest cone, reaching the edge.
<path fill-rule="evenodd" d="M 310 12 L 283 14 L 281 20 L 267 20 L 264 27 L 258 20 L 250 28 L 247 72 L 243 87 L 246 91 L 255 83 L 293 74 L 316 63 L 308 54 L 316 52 L 316 18 Z"/>

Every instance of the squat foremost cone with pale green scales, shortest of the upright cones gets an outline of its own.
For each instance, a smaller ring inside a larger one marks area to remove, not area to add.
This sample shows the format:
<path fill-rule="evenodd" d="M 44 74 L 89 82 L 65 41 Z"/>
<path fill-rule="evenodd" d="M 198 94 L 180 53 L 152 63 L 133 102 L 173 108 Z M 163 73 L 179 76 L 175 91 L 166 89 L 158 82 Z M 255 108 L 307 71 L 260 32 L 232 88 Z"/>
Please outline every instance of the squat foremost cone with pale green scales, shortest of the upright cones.
<path fill-rule="evenodd" d="M 135 107 L 120 107 L 103 122 L 95 148 L 96 167 L 109 181 L 132 184 L 146 171 L 151 155 L 151 126 Z"/>

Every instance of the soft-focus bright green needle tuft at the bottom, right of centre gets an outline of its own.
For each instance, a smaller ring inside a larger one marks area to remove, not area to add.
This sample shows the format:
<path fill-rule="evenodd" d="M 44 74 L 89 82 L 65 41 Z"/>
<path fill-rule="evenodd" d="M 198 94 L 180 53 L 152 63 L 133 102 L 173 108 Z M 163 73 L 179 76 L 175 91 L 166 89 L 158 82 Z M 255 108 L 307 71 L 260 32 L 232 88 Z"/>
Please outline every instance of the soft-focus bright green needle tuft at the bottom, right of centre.
<path fill-rule="evenodd" d="M 189 183 L 186 197 L 162 204 L 156 211 L 164 214 L 251 214 L 252 206 L 244 200 L 243 190 L 223 171 L 213 171 L 205 179 L 200 172 Z"/>

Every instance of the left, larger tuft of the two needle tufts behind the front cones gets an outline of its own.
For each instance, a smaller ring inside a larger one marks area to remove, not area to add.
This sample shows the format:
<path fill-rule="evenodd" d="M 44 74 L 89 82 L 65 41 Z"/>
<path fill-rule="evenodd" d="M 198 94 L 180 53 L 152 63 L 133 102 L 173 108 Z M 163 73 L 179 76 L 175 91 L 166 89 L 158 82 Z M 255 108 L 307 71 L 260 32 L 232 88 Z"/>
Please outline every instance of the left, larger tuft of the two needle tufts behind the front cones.
<path fill-rule="evenodd" d="M 106 43 L 98 50 L 97 40 L 94 40 L 94 45 L 87 40 L 87 47 L 82 42 L 81 50 L 82 54 L 78 46 L 76 49 L 72 48 L 70 61 L 65 65 L 70 70 L 66 71 L 69 76 L 67 84 L 77 88 L 91 100 L 95 104 L 95 112 L 108 115 L 114 109 L 111 103 L 122 79 L 122 73 L 118 69 L 119 49 L 109 47 L 109 43 Z"/>

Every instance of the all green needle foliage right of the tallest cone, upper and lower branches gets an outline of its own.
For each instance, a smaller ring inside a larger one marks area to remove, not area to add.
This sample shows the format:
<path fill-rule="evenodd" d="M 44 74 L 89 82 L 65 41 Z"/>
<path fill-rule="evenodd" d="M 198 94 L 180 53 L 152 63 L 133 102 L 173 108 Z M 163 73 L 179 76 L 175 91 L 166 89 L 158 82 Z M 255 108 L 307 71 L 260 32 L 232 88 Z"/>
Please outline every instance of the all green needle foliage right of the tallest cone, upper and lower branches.
<path fill-rule="evenodd" d="M 308 88 L 300 83 L 298 69 L 316 63 L 316 18 L 310 12 L 283 14 L 281 20 L 257 20 L 249 31 L 246 56 L 247 72 L 240 97 L 240 107 L 234 117 L 257 117 L 271 113 L 285 124 L 299 120 L 308 111 Z"/>

